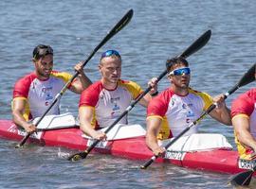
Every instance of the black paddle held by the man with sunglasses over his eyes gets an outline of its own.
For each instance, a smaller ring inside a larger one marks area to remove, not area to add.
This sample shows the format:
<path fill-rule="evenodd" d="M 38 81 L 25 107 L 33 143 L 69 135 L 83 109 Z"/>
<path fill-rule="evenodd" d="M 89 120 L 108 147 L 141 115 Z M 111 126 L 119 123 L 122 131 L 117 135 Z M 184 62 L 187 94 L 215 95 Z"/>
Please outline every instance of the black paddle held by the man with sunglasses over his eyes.
<path fill-rule="evenodd" d="M 255 73 L 255 64 L 247 71 L 247 73 L 239 80 L 239 82 L 233 86 L 229 92 L 227 92 L 225 95 L 225 99 L 230 95 L 233 94 L 237 89 L 239 89 L 242 86 L 247 85 L 248 83 L 252 82 L 255 80 L 254 77 Z M 164 146 L 165 149 L 168 147 L 172 146 L 175 141 L 177 141 L 183 134 L 185 134 L 189 129 L 192 128 L 192 126 L 195 126 L 201 119 L 203 119 L 208 113 L 210 113 L 213 109 L 216 108 L 216 104 L 211 104 L 210 107 L 206 112 L 203 112 L 198 119 L 193 121 L 186 129 L 184 129 L 182 132 L 180 132 L 174 140 L 170 141 L 168 144 Z M 151 163 L 155 162 L 155 160 L 158 158 L 158 156 L 154 155 L 149 161 L 144 163 L 143 165 L 140 166 L 141 169 L 146 169 Z"/>

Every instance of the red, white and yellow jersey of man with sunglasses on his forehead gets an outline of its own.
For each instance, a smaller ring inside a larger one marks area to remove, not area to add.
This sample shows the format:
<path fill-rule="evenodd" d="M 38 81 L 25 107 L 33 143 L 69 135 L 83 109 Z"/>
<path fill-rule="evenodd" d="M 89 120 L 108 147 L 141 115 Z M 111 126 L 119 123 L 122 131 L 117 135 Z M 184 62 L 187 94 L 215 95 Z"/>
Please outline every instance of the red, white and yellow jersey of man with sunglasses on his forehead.
<path fill-rule="evenodd" d="M 132 81 L 119 79 L 117 88 L 112 91 L 105 89 L 101 81 L 97 81 L 82 92 L 80 108 L 93 109 L 91 125 L 94 129 L 100 129 L 110 126 L 141 93 L 140 86 Z M 119 121 L 119 124 L 128 124 L 127 115 Z"/>

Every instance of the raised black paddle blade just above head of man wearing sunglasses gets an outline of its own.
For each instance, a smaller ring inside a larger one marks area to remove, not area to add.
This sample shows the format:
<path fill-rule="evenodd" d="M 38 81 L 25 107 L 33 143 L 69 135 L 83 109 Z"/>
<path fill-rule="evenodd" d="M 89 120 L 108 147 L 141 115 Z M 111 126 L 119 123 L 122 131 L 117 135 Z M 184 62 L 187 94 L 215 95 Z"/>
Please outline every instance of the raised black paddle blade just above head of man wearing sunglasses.
<path fill-rule="evenodd" d="M 190 57 L 193 53 L 201 49 L 206 43 L 210 40 L 211 31 L 206 31 L 203 35 L 201 35 L 192 45 L 190 45 L 181 55 L 178 57 L 182 57 L 184 59 Z"/>

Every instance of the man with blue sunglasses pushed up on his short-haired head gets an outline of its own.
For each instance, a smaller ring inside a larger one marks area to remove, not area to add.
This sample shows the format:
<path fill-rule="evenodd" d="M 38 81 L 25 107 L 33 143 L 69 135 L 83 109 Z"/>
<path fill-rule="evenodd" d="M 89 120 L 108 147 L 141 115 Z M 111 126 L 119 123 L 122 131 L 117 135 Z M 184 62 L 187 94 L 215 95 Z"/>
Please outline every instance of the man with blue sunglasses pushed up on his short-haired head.
<path fill-rule="evenodd" d="M 110 126 L 126 110 L 131 101 L 142 93 L 142 89 L 133 81 L 120 79 L 121 57 L 116 50 L 107 50 L 101 56 L 99 64 L 101 80 L 84 90 L 80 99 L 80 128 L 94 139 L 105 139 L 101 128 Z M 139 103 L 147 107 L 152 95 L 157 94 L 156 78 L 149 85 L 153 88 Z M 127 124 L 127 115 L 119 124 Z"/>

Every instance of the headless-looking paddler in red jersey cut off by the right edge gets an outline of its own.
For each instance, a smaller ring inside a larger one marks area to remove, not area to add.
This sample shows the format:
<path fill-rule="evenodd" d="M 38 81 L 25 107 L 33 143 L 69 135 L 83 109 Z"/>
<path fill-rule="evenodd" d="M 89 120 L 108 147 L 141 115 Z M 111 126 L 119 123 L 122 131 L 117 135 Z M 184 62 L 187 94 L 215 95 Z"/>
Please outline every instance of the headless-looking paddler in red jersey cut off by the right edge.
<path fill-rule="evenodd" d="M 256 76 L 256 75 L 255 75 Z M 240 158 L 256 158 L 256 89 L 239 95 L 231 106 L 235 143 Z"/>

